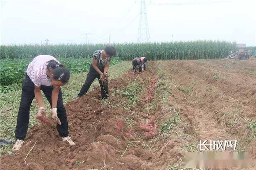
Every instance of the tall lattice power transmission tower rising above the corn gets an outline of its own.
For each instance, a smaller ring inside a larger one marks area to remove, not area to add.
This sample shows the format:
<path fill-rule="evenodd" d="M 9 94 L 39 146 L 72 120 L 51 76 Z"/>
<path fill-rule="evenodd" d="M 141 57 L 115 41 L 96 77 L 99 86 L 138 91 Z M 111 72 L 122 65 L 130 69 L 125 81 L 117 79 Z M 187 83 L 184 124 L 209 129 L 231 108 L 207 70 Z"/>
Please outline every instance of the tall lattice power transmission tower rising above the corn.
<path fill-rule="evenodd" d="M 139 22 L 139 31 L 137 42 L 149 42 L 149 28 L 148 28 L 148 19 L 146 15 L 146 2 L 145 0 L 141 0 L 140 2 L 140 22 Z"/>

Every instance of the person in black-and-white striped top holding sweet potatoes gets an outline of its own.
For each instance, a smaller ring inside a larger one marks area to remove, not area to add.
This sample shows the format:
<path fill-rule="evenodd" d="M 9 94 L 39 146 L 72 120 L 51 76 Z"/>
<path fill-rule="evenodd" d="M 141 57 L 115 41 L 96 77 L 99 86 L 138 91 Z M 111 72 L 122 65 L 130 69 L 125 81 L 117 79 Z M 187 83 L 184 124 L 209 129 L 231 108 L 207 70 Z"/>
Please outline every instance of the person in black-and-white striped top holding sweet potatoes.
<path fill-rule="evenodd" d="M 113 46 L 106 46 L 104 50 L 97 50 L 92 54 L 92 62 L 89 72 L 87 74 L 84 85 L 77 97 L 81 97 L 86 94 L 89 90 L 92 82 L 98 78 L 98 82 L 101 87 L 101 97 L 102 99 L 108 98 L 108 67 L 110 66 L 110 61 L 112 56 L 116 55 L 116 49 Z"/>

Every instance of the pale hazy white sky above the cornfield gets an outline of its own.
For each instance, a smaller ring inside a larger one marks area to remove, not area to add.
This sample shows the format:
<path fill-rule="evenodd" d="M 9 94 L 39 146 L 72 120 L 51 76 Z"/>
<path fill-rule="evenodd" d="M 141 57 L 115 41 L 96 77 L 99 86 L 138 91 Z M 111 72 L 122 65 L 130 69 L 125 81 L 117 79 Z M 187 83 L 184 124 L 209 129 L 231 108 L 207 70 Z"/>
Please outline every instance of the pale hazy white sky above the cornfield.
<path fill-rule="evenodd" d="M 0 0 L 1 45 L 137 42 L 140 0 Z M 256 0 L 146 0 L 150 42 L 256 46 Z M 88 40 L 86 38 L 88 34 Z M 110 39 L 109 39 L 110 38 Z"/>

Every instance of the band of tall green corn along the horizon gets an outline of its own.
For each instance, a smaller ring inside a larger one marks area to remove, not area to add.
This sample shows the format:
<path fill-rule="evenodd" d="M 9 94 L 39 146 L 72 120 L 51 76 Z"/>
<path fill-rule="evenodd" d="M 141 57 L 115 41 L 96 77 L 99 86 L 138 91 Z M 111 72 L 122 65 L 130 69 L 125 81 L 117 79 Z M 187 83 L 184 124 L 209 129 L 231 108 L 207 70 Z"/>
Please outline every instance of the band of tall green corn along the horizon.
<path fill-rule="evenodd" d="M 91 58 L 94 51 L 104 49 L 107 44 L 66 44 L 66 45 L 11 45 L 1 46 L 1 59 L 33 58 L 37 55 L 52 55 L 57 58 Z M 149 60 L 197 60 L 226 57 L 235 51 L 235 42 L 188 41 L 155 42 L 142 44 L 112 44 L 121 60 L 147 57 Z"/>

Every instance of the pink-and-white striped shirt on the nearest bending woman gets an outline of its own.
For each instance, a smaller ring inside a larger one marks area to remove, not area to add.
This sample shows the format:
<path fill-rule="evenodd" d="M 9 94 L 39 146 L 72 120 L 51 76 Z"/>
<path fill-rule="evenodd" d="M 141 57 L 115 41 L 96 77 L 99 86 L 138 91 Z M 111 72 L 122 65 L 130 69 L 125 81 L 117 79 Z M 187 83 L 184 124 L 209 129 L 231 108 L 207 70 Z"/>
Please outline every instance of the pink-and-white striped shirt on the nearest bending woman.
<path fill-rule="evenodd" d="M 47 62 L 50 60 L 56 60 L 53 56 L 49 55 L 39 55 L 32 60 L 32 62 L 28 65 L 27 68 L 27 75 L 30 77 L 31 81 L 37 87 L 44 85 L 44 86 L 51 86 L 50 78 L 47 77 L 46 69 L 47 69 Z M 57 61 L 59 63 L 59 61 Z M 59 63 L 60 64 L 60 63 Z"/>

